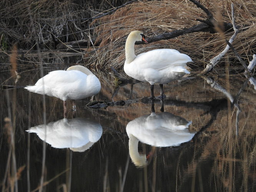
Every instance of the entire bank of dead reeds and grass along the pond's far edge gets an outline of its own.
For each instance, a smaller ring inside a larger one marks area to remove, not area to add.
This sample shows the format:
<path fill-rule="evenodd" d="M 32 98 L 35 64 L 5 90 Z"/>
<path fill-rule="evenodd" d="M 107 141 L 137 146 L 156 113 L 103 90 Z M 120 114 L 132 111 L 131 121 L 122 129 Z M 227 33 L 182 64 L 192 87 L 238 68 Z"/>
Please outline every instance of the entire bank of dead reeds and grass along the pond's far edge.
<path fill-rule="evenodd" d="M 154 38 L 209 21 L 209 15 L 188 0 L 127 2 L 3 0 L 0 2 L 0 51 L 7 54 L 3 50 L 17 43 L 18 49 L 29 49 L 27 54 L 36 49 L 35 43 L 38 41 L 41 50 L 61 47 L 64 51 L 80 53 L 84 58 L 82 62 L 97 71 L 109 71 L 111 66 L 118 70 L 123 68 L 125 40 L 130 31 L 141 30 L 147 37 Z M 256 2 L 202 0 L 200 3 L 213 14 L 216 21 L 216 25 L 210 26 L 211 30 L 203 29 L 202 32 L 186 33 L 148 45 L 136 45 L 136 54 L 156 48 L 174 48 L 192 58 L 192 69 L 204 68 L 224 49 L 225 38 L 229 39 L 234 33 L 231 25 L 231 3 L 234 3 L 239 32 L 233 46 L 241 58 L 249 63 L 256 47 Z M 228 23 L 231 28 L 223 31 Z M 36 35 L 33 35 L 33 30 Z M 67 42 L 77 42 L 74 45 L 79 48 L 72 48 Z M 226 61 L 237 61 L 230 50 L 218 66 Z M 233 62 L 233 65 L 236 63 Z"/>

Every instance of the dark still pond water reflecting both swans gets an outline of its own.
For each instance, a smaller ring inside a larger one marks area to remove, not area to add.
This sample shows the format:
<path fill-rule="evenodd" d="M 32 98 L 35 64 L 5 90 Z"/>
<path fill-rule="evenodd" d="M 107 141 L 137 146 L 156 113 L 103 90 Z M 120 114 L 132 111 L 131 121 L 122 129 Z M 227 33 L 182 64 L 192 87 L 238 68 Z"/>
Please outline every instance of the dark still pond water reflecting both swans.
<path fill-rule="evenodd" d="M 57 69 L 64 68 L 47 68 L 44 74 Z M 10 72 L 2 71 L 1 83 L 14 84 L 8 78 Z M 39 70 L 28 70 L 17 85 L 39 78 Z M 62 101 L 46 96 L 44 190 L 255 191 L 256 92 L 245 80 L 241 74 L 175 81 L 164 86 L 163 102 L 155 100 L 155 114 L 146 98 L 148 84 L 120 86 L 111 98 L 116 88 L 107 75 L 93 100 L 125 105 L 93 109 L 86 107 L 91 99 L 86 98 L 76 102 L 75 118 L 69 111 L 63 119 Z M 14 157 L 17 169 L 25 166 L 18 170 L 18 191 L 35 190 L 42 174 L 43 97 L 25 89 L 1 90 L 0 102 L 0 186 L 11 189 Z M 5 118 L 10 116 L 15 156 L 9 156 Z"/>

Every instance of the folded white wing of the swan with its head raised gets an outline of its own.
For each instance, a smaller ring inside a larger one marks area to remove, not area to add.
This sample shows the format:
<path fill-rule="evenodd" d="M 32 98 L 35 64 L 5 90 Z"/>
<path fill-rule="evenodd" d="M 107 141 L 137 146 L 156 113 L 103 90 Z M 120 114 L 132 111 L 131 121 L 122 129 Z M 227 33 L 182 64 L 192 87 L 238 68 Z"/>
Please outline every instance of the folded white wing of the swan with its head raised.
<path fill-rule="evenodd" d="M 158 49 L 142 53 L 138 55 L 134 61 L 135 65 L 139 65 L 140 68 L 164 70 L 173 67 L 174 70 L 180 72 L 181 68 L 185 67 L 186 63 L 191 62 L 192 60 L 188 55 L 180 53 L 177 50 Z"/>

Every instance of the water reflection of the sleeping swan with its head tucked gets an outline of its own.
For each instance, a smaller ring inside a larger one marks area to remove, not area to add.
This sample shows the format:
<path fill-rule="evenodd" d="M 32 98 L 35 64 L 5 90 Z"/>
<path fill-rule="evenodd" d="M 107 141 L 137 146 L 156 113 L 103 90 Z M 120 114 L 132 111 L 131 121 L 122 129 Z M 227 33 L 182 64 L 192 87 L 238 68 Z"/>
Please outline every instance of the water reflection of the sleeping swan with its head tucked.
<path fill-rule="evenodd" d="M 78 152 L 89 149 L 102 135 L 100 123 L 84 118 L 64 118 L 46 125 L 31 127 L 27 131 L 36 133 L 52 147 L 70 148 Z"/>

